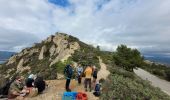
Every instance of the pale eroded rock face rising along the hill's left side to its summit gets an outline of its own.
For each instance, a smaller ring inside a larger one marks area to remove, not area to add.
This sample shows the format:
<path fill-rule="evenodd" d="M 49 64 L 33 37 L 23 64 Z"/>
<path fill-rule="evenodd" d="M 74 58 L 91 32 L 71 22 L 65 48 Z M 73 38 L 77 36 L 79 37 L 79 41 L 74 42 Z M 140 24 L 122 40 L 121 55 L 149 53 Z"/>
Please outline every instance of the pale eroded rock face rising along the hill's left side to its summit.
<path fill-rule="evenodd" d="M 48 68 L 48 66 L 58 61 L 67 60 L 75 50 L 80 49 L 78 42 L 73 41 L 74 39 L 70 38 L 69 35 L 57 33 L 55 36 L 52 35 L 41 43 L 36 43 L 31 48 L 22 50 L 22 52 L 12 56 L 8 60 L 6 65 L 14 69 L 7 69 L 5 77 L 10 77 L 14 71 L 22 73 L 28 70 L 28 72 L 31 72 L 32 67 L 38 66 L 41 69 L 42 65 L 47 64 L 45 66 Z M 57 79 L 61 78 L 63 76 L 58 75 Z"/>

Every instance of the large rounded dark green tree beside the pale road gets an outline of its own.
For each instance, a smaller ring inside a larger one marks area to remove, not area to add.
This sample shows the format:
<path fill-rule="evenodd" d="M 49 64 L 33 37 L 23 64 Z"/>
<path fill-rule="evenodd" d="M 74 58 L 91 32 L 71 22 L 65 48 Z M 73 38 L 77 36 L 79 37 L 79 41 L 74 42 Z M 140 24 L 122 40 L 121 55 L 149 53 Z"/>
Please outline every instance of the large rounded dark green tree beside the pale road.
<path fill-rule="evenodd" d="M 126 45 L 120 45 L 113 54 L 115 64 L 127 71 L 133 72 L 136 67 L 141 67 L 143 57 L 137 49 L 128 48 Z"/>

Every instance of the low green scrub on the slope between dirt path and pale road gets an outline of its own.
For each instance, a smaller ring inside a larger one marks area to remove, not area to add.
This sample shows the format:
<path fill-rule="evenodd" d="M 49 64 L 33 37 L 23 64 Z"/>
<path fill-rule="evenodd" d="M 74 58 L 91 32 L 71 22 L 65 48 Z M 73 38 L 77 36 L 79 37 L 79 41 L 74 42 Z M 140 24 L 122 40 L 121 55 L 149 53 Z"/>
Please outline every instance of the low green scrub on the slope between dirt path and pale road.
<path fill-rule="evenodd" d="M 142 80 L 134 73 L 126 75 L 126 72 L 122 69 L 112 70 L 102 85 L 101 100 L 170 100 L 168 95 L 152 87 L 148 81 Z M 134 77 L 129 77 L 132 74 Z"/>

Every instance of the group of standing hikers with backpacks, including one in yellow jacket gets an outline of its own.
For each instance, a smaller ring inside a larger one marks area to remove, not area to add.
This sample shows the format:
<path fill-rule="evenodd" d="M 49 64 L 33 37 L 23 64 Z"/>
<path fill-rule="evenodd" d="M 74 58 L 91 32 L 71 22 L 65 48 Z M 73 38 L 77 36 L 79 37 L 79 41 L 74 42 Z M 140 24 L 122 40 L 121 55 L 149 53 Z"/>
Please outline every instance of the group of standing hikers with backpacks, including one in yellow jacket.
<path fill-rule="evenodd" d="M 78 64 L 75 68 L 73 64 L 67 65 L 64 69 L 64 74 L 66 76 L 66 84 L 65 89 L 67 92 L 71 92 L 69 88 L 70 81 L 73 78 L 74 70 L 76 71 L 76 79 L 78 80 L 78 84 L 82 83 L 82 77 L 84 77 L 84 88 L 85 91 L 91 92 L 94 90 L 93 94 L 95 96 L 100 95 L 100 82 L 97 80 L 97 68 L 92 65 L 87 65 L 85 68 Z"/>

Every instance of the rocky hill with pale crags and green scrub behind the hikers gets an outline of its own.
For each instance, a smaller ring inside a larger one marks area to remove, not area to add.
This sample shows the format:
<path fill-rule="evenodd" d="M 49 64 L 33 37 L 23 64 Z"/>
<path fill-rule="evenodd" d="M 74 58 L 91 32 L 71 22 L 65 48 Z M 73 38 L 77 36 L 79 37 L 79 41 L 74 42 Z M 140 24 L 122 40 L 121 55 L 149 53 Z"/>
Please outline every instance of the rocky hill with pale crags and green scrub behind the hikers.
<path fill-rule="evenodd" d="M 56 33 L 13 55 L 0 66 L 0 77 L 34 73 L 45 79 L 56 79 L 62 74 L 65 64 L 70 62 L 98 64 L 96 50 L 73 36 Z"/>

